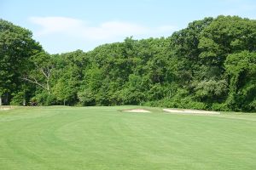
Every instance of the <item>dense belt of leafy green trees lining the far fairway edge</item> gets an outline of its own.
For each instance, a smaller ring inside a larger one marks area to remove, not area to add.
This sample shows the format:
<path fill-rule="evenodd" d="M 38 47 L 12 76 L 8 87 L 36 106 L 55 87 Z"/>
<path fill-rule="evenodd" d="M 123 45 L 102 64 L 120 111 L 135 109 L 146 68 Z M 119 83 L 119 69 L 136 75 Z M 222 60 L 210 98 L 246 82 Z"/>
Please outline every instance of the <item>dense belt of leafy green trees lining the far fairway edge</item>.
<path fill-rule="evenodd" d="M 48 54 L 31 31 L 0 20 L 0 105 L 256 111 L 256 20 L 209 17 L 170 37 L 66 54 Z"/>

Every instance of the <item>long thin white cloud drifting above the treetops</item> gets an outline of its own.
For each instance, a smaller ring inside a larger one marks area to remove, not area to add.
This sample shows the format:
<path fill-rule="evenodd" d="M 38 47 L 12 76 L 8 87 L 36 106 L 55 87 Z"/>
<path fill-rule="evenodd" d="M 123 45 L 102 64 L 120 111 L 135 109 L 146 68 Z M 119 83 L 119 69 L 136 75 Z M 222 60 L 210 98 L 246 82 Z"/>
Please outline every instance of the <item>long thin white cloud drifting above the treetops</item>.
<path fill-rule="evenodd" d="M 63 34 L 69 37 L 82 37 L 90 41 L 114 40 L 119 37 L 160 37 L 171 35 L 174 26 L 148 27 L 131 22 L 107 21 L 98 26 L 90 26 L 84 20 L 67 17 L 31 17 L 32 23 L 40 26 L 37 37 Z"/>

